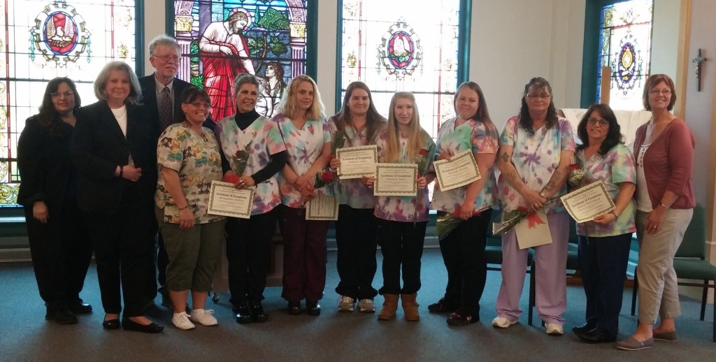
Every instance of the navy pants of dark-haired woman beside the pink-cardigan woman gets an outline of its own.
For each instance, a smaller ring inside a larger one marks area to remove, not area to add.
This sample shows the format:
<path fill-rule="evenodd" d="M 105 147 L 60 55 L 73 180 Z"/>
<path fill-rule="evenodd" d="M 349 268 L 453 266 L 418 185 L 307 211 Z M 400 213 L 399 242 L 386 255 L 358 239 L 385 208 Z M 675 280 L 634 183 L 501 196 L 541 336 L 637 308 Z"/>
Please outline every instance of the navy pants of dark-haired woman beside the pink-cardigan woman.
<path fill-rule="evenodd" d="M 619 313 L 631 244 L 632 233 L 604 238 L 579 236 L 586 322 L 611 337 L 619 333 Z"/>

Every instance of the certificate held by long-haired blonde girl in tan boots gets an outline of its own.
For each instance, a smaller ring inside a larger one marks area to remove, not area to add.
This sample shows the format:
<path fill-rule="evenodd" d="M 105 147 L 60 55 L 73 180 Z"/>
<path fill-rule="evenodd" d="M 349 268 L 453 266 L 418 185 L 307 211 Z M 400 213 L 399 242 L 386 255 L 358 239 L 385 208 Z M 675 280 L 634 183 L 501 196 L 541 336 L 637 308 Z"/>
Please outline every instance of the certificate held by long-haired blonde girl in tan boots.
<path fill-rule="evenodd" d="M 377 164 L 373 195 L 417 196 L 417 164 Z"/>

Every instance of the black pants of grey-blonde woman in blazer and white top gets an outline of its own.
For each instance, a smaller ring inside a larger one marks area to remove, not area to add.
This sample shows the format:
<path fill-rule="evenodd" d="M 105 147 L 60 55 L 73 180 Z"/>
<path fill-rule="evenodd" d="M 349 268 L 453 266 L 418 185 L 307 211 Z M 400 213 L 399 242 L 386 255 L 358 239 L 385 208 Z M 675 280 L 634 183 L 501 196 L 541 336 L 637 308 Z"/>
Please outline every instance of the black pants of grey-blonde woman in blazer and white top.
<path fill-rule="evenodd" d="M 144 314 L 149 302 L 147 283 L 154 283 L 155 275 L 153 248 L 157 224 L 153 206 L 153 202 L 137 200 L 128 188 L 115 212 L 85 212 L 95 247 L 105 313 L 120 313 L 124 296 L 126 317 Z"/>

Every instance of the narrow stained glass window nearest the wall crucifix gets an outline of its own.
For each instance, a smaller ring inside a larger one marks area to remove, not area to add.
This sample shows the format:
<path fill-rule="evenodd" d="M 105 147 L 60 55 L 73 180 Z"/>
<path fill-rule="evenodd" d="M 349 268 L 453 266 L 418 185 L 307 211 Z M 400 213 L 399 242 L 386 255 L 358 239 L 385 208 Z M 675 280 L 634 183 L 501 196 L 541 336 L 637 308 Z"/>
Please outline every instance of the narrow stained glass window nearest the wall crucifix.
<path fill-rule="evenodd" d="M 652 49 L 652 0 L 632 0 L 604 6 L 601 11 L 601 67 L 611 68 L 609 105 L 613 109 L 642 109 L 644 81 L 649 76 Z M 599 95 L 597 96 L 599 102 Z"/>

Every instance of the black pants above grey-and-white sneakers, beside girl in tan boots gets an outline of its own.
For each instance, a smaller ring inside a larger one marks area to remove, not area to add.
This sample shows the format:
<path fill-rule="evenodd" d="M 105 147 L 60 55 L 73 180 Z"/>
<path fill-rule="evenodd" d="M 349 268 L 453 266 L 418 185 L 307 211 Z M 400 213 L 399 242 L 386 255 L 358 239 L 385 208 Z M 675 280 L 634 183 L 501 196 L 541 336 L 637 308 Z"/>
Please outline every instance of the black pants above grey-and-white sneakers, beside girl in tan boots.
<path fill-rule="evenodd" d="M 353 299 L 373 299 L 377 270 L 377 218 L 373 209 L 354 209 L 340 205 L 336 222 L 338 255 L 336 267 L 340 281 L 336 293 Z"/>

